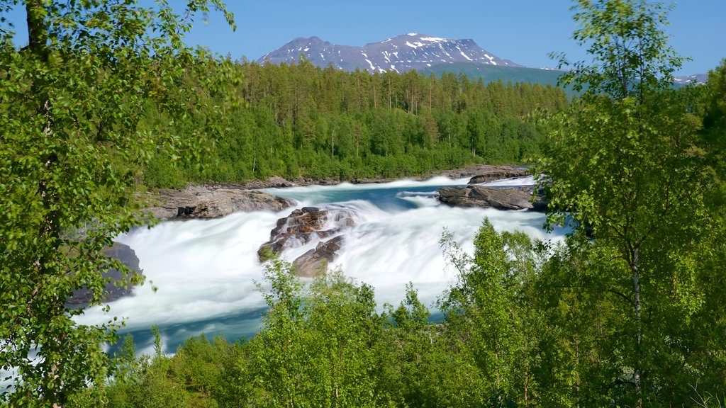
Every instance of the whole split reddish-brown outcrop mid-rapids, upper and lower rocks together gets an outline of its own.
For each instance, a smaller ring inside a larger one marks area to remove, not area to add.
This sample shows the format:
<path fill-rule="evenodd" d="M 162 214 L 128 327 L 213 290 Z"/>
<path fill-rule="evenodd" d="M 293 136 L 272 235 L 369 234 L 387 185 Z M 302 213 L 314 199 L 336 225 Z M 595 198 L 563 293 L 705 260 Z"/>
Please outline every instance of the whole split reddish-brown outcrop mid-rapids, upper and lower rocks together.
<path fill-rule="evenodd" d="M 354 223 L 354 213 L 346 208 L 298 208 L 289 216 L 277 220 L 277 227 L 270 232 L 270 240 L 261 245 L 257 254 L 260 261 L 266 261 L 286 248 L 297 248 L 311 240 L 320 239 L 316 248 L 293 261 L 298 275 L 314 277 L 338 255 L 343 236 L 335 235 Z"/>

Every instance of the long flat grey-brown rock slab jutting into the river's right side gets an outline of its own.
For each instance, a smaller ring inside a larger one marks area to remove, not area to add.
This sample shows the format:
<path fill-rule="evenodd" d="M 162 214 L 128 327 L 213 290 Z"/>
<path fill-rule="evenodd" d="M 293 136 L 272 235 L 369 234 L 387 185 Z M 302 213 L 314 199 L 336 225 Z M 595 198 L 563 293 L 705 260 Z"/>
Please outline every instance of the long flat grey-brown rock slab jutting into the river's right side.
<path fill-rule="evenodd" d="M 457 207 L 497 208 L 498 210 L 523 210 L 534 208 L 532 192 L 518 187 L 442 187 L 441 203 Z"/>

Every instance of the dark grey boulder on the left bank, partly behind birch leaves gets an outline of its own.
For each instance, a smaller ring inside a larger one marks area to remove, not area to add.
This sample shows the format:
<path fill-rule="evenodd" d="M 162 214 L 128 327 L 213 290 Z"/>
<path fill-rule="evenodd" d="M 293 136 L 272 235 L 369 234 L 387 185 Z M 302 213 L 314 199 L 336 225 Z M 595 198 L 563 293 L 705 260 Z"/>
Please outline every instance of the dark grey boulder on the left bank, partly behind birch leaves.
<path fill-rule="evenodd" d="M 128 266 L 129 269 L 131 269 L 132 271 L 136 271 L 139 274 L 142 273 L 142 269 L 139 267 L 139 258 L 136 256 L 134 250 L 129 247 L 129 245 L 124 245 L 121 242 L 113 242 L 113 246 L 111 248 L 106 248 L 103 252 L 111 258 L 118 259 L 124 265 Z M 103 290 L 104 301 L 115 301 L 116 299 L 123 296 L 129 296 L 133 294 L 133 287 L 131 287 L 129 277 L 127 277 L 125 274 L 122 274 L 118 270 L 110 269 L 109 271 L 103 273 L 103 277 L 110 279 L 110 281 L 105 284 Z M 126 280 L 127 287 L 116 285 L 117 282 L 121 282 L 122 280 Z M 91 290 L 88 290 L 85 287 L 82 289 L 73 290 L 73 295 L 68 298 L 68 300 L 66 300 L 65 304 L 66 306 L 70 307 L 86 306 L 88 305 L 89 301 L 91 301 L 91 295 Z"/>

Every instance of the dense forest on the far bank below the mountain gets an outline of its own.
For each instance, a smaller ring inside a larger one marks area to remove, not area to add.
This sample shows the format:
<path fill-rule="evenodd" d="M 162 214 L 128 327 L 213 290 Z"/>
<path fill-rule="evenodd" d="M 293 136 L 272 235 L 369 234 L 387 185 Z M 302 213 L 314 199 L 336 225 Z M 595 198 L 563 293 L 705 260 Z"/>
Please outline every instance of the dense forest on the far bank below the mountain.
<path fill-rule="evenodd" d="M 557 87 L 484 85 L 452 73 L 349 73 L 306 60 L 234 62 L 233 69 L 243 78 L 236 96 L 244 104 L 218 123 L 224 136 L 207 147 L 204 171 L 174 166 L 160 154 L 143 171 L 147 186 L 269 176 L 390 178 L 467 163 L 521 163 L 539 151 L 543 131 L 535 113 L 558 112 L 568 103 Z M 149 112 L 147 123 L 163 123 L 153 106 Z M 184 128 L 174 131 L 184 137 Z"/>

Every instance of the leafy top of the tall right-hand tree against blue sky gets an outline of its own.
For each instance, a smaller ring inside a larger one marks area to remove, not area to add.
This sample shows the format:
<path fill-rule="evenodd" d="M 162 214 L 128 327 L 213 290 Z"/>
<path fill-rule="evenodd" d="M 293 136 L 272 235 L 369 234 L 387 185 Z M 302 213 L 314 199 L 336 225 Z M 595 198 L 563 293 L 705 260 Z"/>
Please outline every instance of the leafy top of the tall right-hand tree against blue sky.
<path fill-rule="evenodd" d="M 553 55 L 558 68 L 570 68 L 560 81 L 588 96 L 602 92 L 640 103 L 669 88 L 684 60 L 661 29 L 671 8 L 645 0 L 575 0 L 571 9 L 579 29 L 573 38 L 587 46 L 592 61 L 570 63 L 565 54 Z"/>

